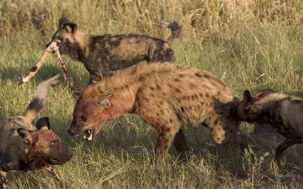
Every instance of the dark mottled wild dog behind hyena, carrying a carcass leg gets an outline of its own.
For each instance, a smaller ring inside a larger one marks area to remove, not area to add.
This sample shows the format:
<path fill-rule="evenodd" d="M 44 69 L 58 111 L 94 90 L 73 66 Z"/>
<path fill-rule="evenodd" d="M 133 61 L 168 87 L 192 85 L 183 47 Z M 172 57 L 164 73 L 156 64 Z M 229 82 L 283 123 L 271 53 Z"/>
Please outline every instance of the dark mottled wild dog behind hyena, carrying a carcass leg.
<path fill-rule="evenodd" d="M 181 35 L 182 26 L 176 21 L 162 21 L 160 27 L 171 29 L 168 41 L 139 34 L 93 36 L 78 31 L 78 26 L 67 18 L 60 18 L 52 41 L 59 41 L 60 53 L 84 64 L 91 83 L 111 76 L 110 71 L 130 67 L 143 60 L 174 62 L 171 44 Z"/>

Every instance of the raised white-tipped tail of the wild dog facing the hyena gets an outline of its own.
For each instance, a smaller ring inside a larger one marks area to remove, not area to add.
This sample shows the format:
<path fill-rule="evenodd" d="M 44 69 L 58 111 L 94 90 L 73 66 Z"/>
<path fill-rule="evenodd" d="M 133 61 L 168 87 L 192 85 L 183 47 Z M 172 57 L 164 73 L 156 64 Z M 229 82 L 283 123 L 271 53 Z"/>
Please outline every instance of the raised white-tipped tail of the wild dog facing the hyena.
<path fill-rule="evenodd" d="M 32 122 L 32 120 L 36 118 L 38 112 L 43 108 L 47 91 L 52 85 L 59 82 L 59 76 L 60 75 L 58 74 L 55 77 L 50 78 L 49 80 L 43 81 L 37 87 L 35 95 L 29 103 L 24 116 L 30 122 Z"/>

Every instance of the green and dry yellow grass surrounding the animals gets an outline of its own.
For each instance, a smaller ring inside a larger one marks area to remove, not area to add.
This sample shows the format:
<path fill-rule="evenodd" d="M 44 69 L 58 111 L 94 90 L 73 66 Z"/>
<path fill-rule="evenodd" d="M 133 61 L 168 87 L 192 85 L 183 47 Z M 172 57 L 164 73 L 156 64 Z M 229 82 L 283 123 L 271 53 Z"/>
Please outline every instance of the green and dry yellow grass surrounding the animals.
<path fill-rule="evenodd" d="M 225 80 L 238 96 L 271 88 L 303 96 L 303 3 L 301 0 L 104 0 L 104 1 L 3 1 L 0 0 L 0 119 L 23 115 L 37 85 L 62 73 L 55 55 L 35 78 L 18 86 L 45 50 L 61 16 L 91 34 L 146 34 L 163 39 L 169 30 L 158 23 L 175 19 L 182 36 L 172 46 L 176 63 L 208 70 Z M 76 85 L 82 90 L 89 75 L 82 63 L 63 57 Z M 302 188 L 303 171 L 298 148 L 286 153 L 280 170 L 274 152 L 278 140 L 263 140 L 250 132 L 249 145 L 256 154 L 242 155 L 238 148 L 218 147 L 207 128 L 185 131 L 191 160 L 175 162 L 176 151 L 165 161 L 150 164 L 157 139 L 153 130 L 134 115 L 108 121 L 93 142 L 85 143 L 66 132 L 77 95 L 63 82 L 54 86 L 39 114 L 49 116 L 53 130 L 75 156 L 58 166 L 67 188 Z M 34 122 L 35 123 L 35 122 Z M 274 143 L 271 145 L 270 143 Z M 293 161 L 292 161 L 293 160 Z M 284 161 L 285 163 L 285 161 Z M 58 188 L 42 174 L 12 171 L 10 188 Z"/>

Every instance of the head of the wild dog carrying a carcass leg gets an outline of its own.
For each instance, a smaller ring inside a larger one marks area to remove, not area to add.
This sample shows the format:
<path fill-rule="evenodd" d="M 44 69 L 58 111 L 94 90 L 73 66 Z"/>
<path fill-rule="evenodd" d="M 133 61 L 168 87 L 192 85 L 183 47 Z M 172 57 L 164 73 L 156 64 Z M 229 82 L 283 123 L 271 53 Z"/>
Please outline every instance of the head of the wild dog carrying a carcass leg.
<path fill-rule="evenodd" d="M 69 47 L 75 43 L 74 34 L 76 33 L 77 29 L 77 24 L 71 23 L 67 18 L 62 17 L 59 19 L 59 27 L 55 34 L 53 34 L 52 41 L 57 41 L 57 46 L 60 53 L 68 53 Z M 48 47 L 52 41 L 45 46 Z"/>

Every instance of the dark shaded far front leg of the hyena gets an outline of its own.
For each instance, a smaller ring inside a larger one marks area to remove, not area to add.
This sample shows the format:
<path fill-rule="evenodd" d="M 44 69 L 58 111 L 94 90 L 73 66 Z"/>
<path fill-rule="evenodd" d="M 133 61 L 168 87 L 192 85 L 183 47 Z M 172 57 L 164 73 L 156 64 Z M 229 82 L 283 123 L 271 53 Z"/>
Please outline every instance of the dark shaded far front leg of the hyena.
<path fill-rule="evenodd" d="M 186 140 L 185 140 L 185 137 L 183 135 L 181 128 L 175 135 L 174 145 L 175 145 L 176 150 L 179 153 L 179 159 L 182 161 L 187 161 L 187 159 L 189 159 L 189 157 L 187 156 L 186 152 L 189 151 L 189 148 L 186 144 Z"/>

